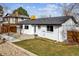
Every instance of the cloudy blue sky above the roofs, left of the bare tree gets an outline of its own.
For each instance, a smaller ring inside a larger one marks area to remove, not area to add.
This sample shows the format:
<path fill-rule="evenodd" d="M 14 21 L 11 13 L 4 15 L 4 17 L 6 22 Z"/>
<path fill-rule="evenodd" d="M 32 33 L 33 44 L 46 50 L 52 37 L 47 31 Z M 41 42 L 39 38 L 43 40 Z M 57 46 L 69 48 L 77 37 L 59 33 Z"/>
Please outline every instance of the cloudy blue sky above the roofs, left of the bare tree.
<path fill-rule="evenodd" d="M 11 13 L 13 10 L 23 7 L 27 10 L 30 16 L 36 17 L 49 17 L 49 16 L 61 16 L 62 7 L 59 3 L 4 3 L 0 4 L 5 6 L 7 13 Z"/>

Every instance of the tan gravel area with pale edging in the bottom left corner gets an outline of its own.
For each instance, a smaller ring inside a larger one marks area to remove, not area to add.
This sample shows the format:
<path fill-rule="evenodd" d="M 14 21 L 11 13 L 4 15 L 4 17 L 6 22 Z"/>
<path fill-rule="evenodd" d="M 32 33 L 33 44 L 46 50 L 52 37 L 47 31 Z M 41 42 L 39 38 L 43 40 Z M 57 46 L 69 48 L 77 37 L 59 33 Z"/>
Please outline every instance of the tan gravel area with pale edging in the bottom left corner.
<path fill-rule="evenodd" d="M 13 44 L 10 41 L 5 41 L 0 43 L 0 56 L 37 56 L 37 55 Z"/>

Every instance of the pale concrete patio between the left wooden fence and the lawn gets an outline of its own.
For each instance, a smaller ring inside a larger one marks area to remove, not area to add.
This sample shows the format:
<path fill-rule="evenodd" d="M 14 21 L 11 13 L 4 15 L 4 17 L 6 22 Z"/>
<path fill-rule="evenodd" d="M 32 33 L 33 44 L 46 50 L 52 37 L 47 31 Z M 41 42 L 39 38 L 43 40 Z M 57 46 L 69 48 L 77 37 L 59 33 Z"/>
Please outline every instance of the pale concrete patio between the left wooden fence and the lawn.
<path fill-rule="evenodd" d="M 16 41 L 21 41 L 26 39 L 32 39 L 34 38 L 34 35 L 6 33 L 6 34 L 1 34 L 0 37 L 5 38 L 7 41 L 10 41 L 10 42 L 16 42 Z"/>

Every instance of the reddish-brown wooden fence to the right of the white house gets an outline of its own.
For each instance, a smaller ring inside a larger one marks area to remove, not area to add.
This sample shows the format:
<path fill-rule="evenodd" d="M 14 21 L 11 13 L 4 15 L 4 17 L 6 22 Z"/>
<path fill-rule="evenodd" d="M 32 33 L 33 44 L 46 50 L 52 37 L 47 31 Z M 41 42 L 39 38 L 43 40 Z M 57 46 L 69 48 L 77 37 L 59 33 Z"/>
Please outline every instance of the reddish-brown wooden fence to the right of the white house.
<path fill-rule="evenodd" d="M 79 43 L 79 31 L 67 31 L 68 42 Z"/>

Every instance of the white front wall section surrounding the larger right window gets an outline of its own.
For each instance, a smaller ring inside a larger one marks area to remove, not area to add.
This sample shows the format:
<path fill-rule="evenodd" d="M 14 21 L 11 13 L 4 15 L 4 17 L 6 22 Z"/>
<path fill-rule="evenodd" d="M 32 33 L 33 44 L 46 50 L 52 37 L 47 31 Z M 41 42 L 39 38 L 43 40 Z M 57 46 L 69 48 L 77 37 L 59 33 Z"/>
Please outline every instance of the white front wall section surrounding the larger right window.
<path fill-rule="evenodd" d="M 58 40 L 58 26 L 53 26 L 53 32 L 47 31 L 47 26 L 42 25 L 40 29 L 37 29 L 37 34 L 40 37 L 49 38 L 52 40 Z"/>

